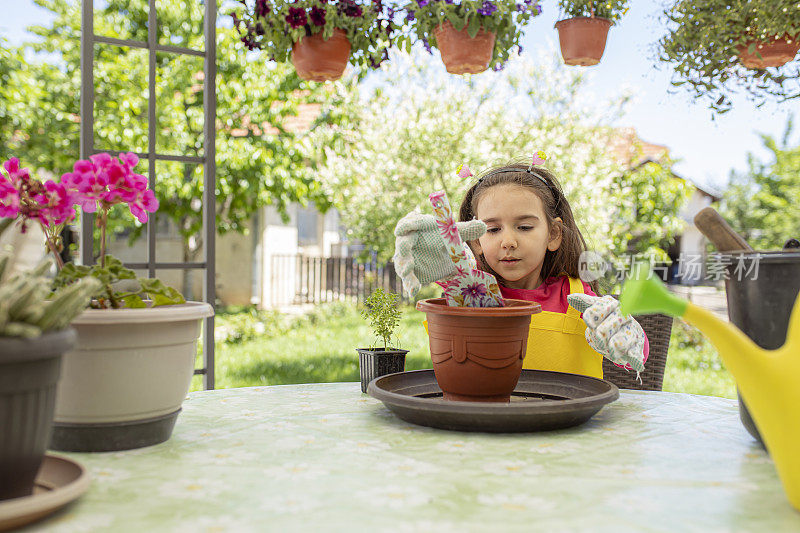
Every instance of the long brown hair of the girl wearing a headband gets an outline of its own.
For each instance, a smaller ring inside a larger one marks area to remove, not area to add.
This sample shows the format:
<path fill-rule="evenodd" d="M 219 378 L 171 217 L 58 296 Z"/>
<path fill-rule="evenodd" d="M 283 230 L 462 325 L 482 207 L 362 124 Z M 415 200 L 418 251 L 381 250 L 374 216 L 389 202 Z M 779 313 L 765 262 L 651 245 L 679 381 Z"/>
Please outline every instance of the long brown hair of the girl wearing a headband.
<path fill-rule="evenodd" d="M 484 172 L 483 176 L 467 191 L 461 202 L 458 218 L 462 222 L 476 218 L 475 210 L 478 202 L 484 193 L 495 185 L 510 184 L 531 189 L 544 205 L 548 229 L 552 230 L 553 225 L 558 224 L 562 235 L 561 246 L 558 247 L 558 250 L 553 252 L 547 250 L 545 253 L 541 272 L 542 281 L 562 274 L 567 274 L 571 278 L 579 278 L 580 255 L 586 250 L 586 241 L 575 223 L 572 208 L 564 197 L 561 186 L 550 171 L 541 167 L 532 167 L 530 170 L 528 168 L 528 165 L 515 163 Z M 561 218 L 561 221 L 555 220 L 556 218 Z M 476 259 L 481 270 L 502 280 L 502 277 L 489 267 L 483 254 L 478 255 Z M 597 293 L 597 282 L 589 285 Z"/>

